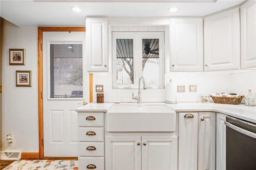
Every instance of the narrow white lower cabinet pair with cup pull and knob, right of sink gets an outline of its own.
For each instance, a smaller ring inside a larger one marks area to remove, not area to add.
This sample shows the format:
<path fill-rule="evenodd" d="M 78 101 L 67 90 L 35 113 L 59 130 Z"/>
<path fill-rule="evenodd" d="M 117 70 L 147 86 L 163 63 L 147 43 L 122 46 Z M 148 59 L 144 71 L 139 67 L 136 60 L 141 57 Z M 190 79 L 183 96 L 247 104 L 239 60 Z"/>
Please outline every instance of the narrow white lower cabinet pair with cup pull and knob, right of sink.
<path fill-rule="evenodd" d="M 215 170 L 215 112 L 179 113 L 179 170 Z"/>

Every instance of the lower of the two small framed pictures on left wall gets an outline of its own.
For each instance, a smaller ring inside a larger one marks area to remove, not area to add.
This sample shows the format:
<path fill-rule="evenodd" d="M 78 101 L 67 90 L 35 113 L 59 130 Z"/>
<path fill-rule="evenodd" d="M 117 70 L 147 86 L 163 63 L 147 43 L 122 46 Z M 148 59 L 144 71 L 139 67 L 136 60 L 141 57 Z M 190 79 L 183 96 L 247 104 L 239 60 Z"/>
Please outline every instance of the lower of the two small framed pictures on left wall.
<path fill-rule="evenodd" d="M 32 71 L 16 70 L 16 86 L 32 87 Z"/>

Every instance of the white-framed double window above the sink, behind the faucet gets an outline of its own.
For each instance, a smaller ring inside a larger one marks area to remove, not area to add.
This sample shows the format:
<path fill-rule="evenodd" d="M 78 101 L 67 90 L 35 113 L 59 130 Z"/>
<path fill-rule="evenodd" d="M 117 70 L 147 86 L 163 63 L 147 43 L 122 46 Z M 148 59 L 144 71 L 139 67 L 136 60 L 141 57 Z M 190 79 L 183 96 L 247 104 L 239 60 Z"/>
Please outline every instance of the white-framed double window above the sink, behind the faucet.
<path fill-rule="evenodd" d="M 164 88 L 164 32 L 112 32 L 113 88 Z"/>

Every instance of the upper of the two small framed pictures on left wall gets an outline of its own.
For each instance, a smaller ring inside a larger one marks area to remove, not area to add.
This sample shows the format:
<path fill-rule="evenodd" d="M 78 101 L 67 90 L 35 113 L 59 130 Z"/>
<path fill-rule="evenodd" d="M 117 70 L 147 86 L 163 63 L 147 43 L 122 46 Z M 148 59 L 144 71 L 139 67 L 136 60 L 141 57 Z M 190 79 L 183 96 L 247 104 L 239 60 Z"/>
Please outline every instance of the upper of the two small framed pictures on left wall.
<path fill-rule="evenodd" d="M 9 49 L 10 65 L 25 65 L 25 49 Z"/>

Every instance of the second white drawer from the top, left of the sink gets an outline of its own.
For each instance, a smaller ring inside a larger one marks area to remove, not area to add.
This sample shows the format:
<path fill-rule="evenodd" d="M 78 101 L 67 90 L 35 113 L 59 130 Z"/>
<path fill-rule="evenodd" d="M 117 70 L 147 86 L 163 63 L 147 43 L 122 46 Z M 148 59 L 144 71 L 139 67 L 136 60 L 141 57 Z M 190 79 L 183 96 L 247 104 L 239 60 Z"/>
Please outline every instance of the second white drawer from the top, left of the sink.
<path fill-rule="evenodd" d="M 104 142 L 104 127 L 78 127 L 78 141 Z"/>

